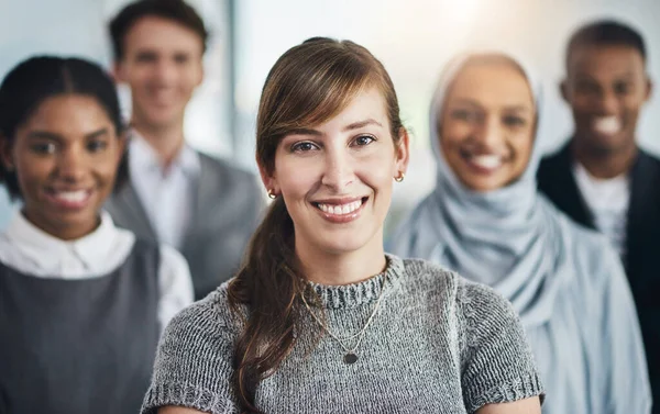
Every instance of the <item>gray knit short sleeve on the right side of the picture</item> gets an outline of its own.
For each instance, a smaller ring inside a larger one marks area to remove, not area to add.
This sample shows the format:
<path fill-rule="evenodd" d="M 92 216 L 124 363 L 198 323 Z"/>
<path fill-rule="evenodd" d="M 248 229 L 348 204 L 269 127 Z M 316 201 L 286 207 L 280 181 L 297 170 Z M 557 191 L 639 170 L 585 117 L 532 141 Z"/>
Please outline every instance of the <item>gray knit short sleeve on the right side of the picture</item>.
<path fill-rule="evenodd" d="M 468 281 L 457 292 L 464 347 L 461 383 L 468 413 L 542 392 L 531 348 L 512 304 Z M 543 395 L 541 395 L 541 399 Z"/>

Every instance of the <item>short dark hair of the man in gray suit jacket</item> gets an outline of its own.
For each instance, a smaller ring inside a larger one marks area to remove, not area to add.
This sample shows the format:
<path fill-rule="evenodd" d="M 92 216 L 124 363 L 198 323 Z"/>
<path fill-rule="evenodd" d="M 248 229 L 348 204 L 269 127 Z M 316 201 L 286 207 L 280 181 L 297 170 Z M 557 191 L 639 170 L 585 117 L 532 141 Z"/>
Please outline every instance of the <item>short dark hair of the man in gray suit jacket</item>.
<path fill-rule="evenodd" d="M 124 57 L 124 40 L 131 27 L 146 16 L 170 20 L 190 29 L 199 35 L 202 53 L 206 52 L 209 32 L 193 7 L 184 0 L 138 0 L 123 8 L 110 22 L 110 38 L 116 60 Z"/>

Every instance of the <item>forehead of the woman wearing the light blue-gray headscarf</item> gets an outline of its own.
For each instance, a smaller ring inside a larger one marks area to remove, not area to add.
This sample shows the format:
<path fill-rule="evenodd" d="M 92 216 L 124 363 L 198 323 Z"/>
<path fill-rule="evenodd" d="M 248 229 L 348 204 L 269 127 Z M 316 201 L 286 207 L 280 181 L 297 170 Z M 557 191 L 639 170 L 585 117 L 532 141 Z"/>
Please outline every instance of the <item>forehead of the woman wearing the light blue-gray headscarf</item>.
<path fill-rule="evenodd" d="M 447 99 L 476 101 L 485 107 L 534 107 L 529 81 L 507 61 L 466 64 L 451 82 Z"/>

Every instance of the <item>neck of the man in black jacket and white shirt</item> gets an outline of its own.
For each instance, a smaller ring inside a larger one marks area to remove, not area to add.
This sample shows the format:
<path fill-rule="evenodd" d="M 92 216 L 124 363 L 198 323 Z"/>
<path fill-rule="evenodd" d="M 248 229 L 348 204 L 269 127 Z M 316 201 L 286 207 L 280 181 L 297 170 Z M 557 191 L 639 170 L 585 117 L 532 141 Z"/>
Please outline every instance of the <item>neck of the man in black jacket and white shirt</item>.
<path fill-rule="evenodd" d="M 610 179 L 627 174 L 632 168 L 638 152 L 635 144 L 616 152 L 594 150 L 580 139 L 574 139 L 571 144 L 573 159 L 580 163 L 591 176 L 600 179 Z"/>

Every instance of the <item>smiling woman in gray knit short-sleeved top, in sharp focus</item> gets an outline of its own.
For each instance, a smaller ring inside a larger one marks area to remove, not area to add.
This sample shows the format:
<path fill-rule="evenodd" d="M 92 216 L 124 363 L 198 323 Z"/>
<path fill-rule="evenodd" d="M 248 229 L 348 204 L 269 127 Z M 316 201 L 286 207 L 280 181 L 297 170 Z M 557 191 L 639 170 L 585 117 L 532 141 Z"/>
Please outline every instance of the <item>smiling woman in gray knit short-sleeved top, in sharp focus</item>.
<path fill-rule="evenodd" d="M 384 253 L 408 164 L 398 112 L 354 43 L 278 59 L 256 134 L 274 202 L 238 276 L 166 328 L 143 413 L 540 413 L 512 305 Z"/>

